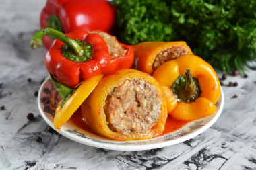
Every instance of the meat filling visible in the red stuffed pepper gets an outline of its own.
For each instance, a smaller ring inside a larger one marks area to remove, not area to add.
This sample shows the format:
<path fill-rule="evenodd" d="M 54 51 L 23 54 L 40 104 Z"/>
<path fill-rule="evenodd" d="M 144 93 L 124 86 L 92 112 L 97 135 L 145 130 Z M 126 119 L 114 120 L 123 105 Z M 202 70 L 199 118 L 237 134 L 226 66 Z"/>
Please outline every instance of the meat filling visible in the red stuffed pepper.
<path fill-rule="evenodd" d="M 116 58 L 119 56 L 125 56 L 127 54 L 127 50 L 123 48 L 118 42 L 115 36 L 110 36 L 105 32 L 92 32 L 95 34 L 99 34 L 105 40 L 106 44 L 108 45 L 108 52 L 111 58 Z"/>

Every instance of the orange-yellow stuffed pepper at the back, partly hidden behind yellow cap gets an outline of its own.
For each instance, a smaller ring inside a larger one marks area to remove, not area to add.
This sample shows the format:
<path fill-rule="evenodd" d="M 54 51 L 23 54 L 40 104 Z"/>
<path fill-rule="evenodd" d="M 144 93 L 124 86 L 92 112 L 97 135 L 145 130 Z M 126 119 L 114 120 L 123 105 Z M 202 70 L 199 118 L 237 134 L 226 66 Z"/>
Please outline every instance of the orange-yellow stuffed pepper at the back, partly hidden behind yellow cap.
<path fill-rule="evenodd" d="M 185 54 L 193 54 L 186 42 L 141 42 L 134 46 L 133 64 L 151 75 L 164 62 Z"/>

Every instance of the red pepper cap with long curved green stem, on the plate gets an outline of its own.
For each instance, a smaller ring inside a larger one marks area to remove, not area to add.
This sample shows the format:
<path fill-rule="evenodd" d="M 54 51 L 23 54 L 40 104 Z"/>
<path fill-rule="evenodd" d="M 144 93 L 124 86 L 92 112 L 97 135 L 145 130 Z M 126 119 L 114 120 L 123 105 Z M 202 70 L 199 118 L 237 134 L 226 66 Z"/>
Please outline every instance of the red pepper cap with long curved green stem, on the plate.
<path fill-rule="evenodd" d="M 43 28 L 42 32 L 57 38 L 44 62 L 49 73 L 64 85 L 74 88 L 94 75 L 108 73 L 106 66 L 110 63 L 110 54 L 100 35 L 85 30 L 63 34 L 52 28 Z"/>

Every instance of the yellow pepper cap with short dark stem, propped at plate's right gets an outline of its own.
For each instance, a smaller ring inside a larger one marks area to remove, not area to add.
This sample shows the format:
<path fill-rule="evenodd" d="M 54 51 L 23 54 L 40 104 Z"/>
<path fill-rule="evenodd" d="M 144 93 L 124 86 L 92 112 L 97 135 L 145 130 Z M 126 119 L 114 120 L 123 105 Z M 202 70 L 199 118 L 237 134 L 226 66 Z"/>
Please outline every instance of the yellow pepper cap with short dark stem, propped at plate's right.
<path fill-rule="evenodd" d="M 212 66 L 199 56 L 165 62 L 152 76 L 162 85 L 168 114 L 177 120 L 196 120 L 215 112 L 220 82 Z"/>

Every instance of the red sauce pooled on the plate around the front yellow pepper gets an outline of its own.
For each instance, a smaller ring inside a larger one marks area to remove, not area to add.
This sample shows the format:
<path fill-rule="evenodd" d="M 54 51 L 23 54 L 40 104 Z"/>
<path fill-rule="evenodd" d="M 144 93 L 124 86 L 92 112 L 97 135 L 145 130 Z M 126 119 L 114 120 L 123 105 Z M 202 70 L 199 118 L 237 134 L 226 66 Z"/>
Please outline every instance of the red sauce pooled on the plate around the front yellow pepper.
<path fill-rule="evenodd" d="M 78 108 L 77 111 L 75 111 L 75 113 L 71 116 L 69 121 L 73 122 L 73 124 L 75 124 L 79 128 L 82 128 L 82 129 L 86 130 L 87 132 L 93 133 L 92 130 L 90 130 L 90 128 L 84 121 L 81 108 Z M 185 126 L 185 124 L 187 124 L 187 123 L 189 123 L 189 121 L 176 120 L 176 119 L 172 118 L 170 115 L 168 115 L 168 118 L 167 118 L 166 124 L 165 124 L 165 128 L 164 128 L 164 132 L 162 132 L 162 134 L 156 135 L 155 137 L 162 136 L 162 135 L 168 134 L 170 132 L 174 132 L 175 130 L 178 130 L 179 128 L 182 128 L 183 126 Z"/>

